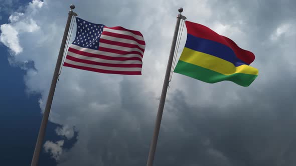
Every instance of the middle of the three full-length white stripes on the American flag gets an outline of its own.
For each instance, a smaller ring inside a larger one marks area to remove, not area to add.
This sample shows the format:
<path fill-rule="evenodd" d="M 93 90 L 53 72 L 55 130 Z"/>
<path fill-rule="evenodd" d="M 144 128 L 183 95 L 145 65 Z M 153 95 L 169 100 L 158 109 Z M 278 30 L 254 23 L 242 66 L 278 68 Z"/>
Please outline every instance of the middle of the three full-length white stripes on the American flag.
<path fill-rule="evenodd" d="M 85 60 L 91 60 L 91 61 L 97 61 L 102 63 L 112 63 L 112 64 L 142 64 L 139 60 L 108 60 L 108 59 L 101 59 L 98 57 L 89 57 L 89 56 L 83 56 L 71 51 L 68 51 L 67 55 L 79 58 L 79 59 L 85 59 Z"/>

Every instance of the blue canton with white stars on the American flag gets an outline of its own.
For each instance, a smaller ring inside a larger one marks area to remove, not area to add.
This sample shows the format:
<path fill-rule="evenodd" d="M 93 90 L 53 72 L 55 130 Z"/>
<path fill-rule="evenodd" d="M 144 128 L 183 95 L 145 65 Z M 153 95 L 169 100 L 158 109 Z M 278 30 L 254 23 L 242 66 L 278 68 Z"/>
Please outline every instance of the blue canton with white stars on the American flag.
<path fill-rule="evenodd" d="M 99 40 L 105 25 L 91 23 L 78 17 L 76 24 L 76 37 L 72 44 L 98 50 Z"/>

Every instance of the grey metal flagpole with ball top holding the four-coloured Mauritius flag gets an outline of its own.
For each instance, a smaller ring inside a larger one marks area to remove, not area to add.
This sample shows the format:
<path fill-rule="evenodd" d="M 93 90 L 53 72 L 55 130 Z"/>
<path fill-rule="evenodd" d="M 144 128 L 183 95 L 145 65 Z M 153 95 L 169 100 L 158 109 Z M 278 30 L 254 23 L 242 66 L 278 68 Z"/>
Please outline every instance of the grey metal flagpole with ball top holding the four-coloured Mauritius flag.
<path fill-rule="evenodd" d="M 172 41 L 170 56 L 169 56 L 169 60 L 168 60 L 168 66 L 167 66 L 167 71 L 166 71 L 166 75 L 165 75 L 161 100 L 160 100 L 160 104 L 159 104 L 159 107 L 158 107 L 158 112 L 157 112 L 157 116 L 156 116 L 156 123 L 155 123 L 155 128 L 154 128 L 154 133 L 153 133 L 153 138 L 152 138 L 152 142 L 151 142 L 151 145 L 150 145 L 150 151 L 149 151 L 149 156 L 148 156 L 146 166 L 152 166 L 153 165 L 153 160 L 154 160 L 154 156 L 155 156 L 158 135 L 159 135 L 159 132 L 160 132 L 161 121 L 162 121 L 162 116 L 163 116 L 163 111 L 164 111 L 164 106 L 165 106 L 167 90 L 168 90 L 168 86 L 169 86 L 169 78 L 170 78 L 170 73 L 171 73 L 172 63 L 173 63 L 173 57 L 174 57 L 175 48 L 176 48 L 176 42 L 177 42 L 177 36 L 178 36 L 180 20 L 181 20 L 181 18 L 186 19 L 186 17 L 181 14 L 181 12 L 183 11 L 183 8 L 182 7 L 179 8 L 178 11 L 179 11 L 179 14 L 177 16 L 177 23 L 176 23 L 176 27 L 175 27 L 175 32 L 174 32 L 174 37 L 173 37 L 173 41 Z"/>

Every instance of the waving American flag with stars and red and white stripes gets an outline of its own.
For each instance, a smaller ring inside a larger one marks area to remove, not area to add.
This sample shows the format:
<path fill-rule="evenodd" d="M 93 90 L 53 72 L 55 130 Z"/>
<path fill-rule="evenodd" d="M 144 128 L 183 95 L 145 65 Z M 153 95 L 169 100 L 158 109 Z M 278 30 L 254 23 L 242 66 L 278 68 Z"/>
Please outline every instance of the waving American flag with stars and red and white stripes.
<path fill-rule="evenodd" d="M 64 66 L 102 73 L 140 75 L 145 49 L 139 31 L 76 18 L 77 30 Z"/>

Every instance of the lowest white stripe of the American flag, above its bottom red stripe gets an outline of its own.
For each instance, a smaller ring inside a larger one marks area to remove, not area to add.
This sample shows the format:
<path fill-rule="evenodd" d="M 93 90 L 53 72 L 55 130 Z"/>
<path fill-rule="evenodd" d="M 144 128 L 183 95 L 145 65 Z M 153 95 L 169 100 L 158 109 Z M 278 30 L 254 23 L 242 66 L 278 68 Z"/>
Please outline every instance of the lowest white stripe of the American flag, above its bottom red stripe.
<path fill-rule="evenodd" d="M 112 70 L 112 71 L 141 71 L 140 67 L 108 67 L 108 66 L 102 66 L 102 65 L 81 63 L 81 62 L 77 62 L 69 59 L 65 59 L 65 62 L 73 65 L 98 68 L 98 69 L 104 69 L 104 70 Z"/>

